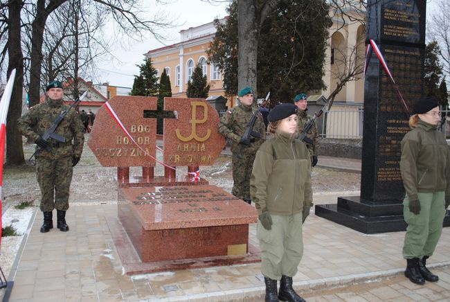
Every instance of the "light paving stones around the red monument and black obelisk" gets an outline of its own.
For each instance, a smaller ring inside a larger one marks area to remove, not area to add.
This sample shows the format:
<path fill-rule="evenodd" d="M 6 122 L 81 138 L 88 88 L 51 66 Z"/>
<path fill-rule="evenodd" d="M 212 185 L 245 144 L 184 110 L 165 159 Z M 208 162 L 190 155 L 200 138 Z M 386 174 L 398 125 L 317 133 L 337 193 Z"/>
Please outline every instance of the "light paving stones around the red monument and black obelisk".
<path fill-rule="evenodd" d="M 338 196 L 316 194 L 316 204 Z M 357 195 L 356 193 L 352 193 Z M 260 264 L 127 276 L 107 227 L 116 204 L 73 204 L 69 232 L 33 227 L 8 280 L 9 301 L 263 301 Z M 429 259 L 438 283 L 414 285 L 403 276 L 404 232 L 366 235 L 309 215 L 305 252 L 294 287 L 307 301 L 450 301 L 450 228 Z M 250 242 L 258 246 L 255 224 Z"/>

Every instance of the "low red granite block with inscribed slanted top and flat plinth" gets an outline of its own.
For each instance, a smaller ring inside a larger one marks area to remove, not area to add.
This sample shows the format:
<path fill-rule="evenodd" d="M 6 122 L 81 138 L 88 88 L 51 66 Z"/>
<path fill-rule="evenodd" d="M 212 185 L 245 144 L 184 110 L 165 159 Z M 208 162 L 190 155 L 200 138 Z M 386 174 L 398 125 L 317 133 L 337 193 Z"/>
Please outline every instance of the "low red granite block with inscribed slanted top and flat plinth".
<path fill-rule="evenodd" d="M 109 228 L 127 274 L 260 261 L 253 206 L 210 185 L 119 188 Z"/>

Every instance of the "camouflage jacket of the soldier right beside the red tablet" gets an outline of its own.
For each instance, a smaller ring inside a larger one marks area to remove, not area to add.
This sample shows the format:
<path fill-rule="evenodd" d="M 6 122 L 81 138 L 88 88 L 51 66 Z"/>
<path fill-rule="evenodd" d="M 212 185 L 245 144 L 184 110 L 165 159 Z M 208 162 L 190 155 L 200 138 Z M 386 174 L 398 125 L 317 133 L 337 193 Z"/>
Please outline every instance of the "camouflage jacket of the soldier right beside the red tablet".
<path fill-rule="evenodd" d="M 219 132 L 231 141 L 231 152 L 240 152 L 240 139 L 249 125 L 251 116 L 258 111 L 258 115 L 253 126 L 253 131 L 261 134 L 261 139 L 251 139 L 253 142 L 249 147 L 244 147 L 246 154 L 255 154 L 266 139 L 266 126 L 262 119 L 258 107 L 239 105 L 228 110 L 219 121 Z"/>

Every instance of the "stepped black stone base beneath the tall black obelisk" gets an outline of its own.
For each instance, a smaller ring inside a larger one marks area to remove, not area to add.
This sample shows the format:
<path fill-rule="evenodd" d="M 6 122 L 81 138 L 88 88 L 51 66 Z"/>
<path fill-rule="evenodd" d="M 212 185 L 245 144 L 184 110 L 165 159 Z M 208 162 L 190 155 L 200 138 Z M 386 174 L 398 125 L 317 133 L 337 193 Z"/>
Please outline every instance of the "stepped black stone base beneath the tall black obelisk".
<path fill-rule="evenodd" d="M 403 204 L 399 201 L 368 202 L 359 196 L 338 197 L 337 204 L 316 205 L 315 214 L 366 234 L 406 231 Z M 444 227 L 450 227 L 449 211 Z"/>

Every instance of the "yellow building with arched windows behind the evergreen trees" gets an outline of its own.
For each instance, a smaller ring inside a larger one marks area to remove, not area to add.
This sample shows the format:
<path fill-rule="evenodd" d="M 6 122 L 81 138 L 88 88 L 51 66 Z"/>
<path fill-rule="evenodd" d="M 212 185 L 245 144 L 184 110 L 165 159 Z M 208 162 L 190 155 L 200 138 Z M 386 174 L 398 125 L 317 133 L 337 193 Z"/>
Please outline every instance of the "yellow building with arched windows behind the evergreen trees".
<path fill-rule="evenodd" d="M 344 13 L 342 13 L 344 12 Z M 365 28 L 360 21 L 352 21 L 354 19 L 363 20 L 365 12 L 361 6 L 361 10 L 355 8 L 345 10 L 330 10 L 333 25 L 329 29 L 330 38 L 325 55 L 324 65 L 324 82 L 326 89 L 320 91 L 305 91 L 309 95 L 314 95 L 312 99 L 318 96 L 328 98 L 332 91 L 336 88 L 339 78 L 345 76 L 345 72 L 352 68 L 361 69 L 365 58 Z M 352 16 L 352 20 L 348 17 Z M 220 21 L 225 21 L 221 19 Z M 145 53 L 145 57 L 152 58 L 153 66 L 161 76 L 163 69 L 170 76 L 172 84 L 172 95 L 186 97 L 186 88 L 188 80 L 192 76 L 192 72 L 197 63 L 201 64 L 204 74 L 208 78 L 210 84 L 209 96 L 224 96 L 224 88 L 222 86 L 222 71 L 215 64 L 208 64 L 206 50 L 215 35 L 214 23 L 210 22 L 197 27 L 181 30 L 181 42 L 172 44 L 162 48 L 156 48 Z M 355 67 L 356 65 L 356 67 Z M 362 70 L 362 69 L 361 69 Z M 362 104 L 364 99 L 364 80 L 363 74 L 359 73 L 359 80 L 347 82 L 345 87 L 339 92 L 334 99 L 333 110 L 350 111 L 348 118 L 356 119 L 352 121 L 352 136 L 362 129 Z M 234 98 L 228 98 L 227 106 L 234 107 Z M 347 115 L 347 114 L 346 114 Z M 327 123 L 334 119 L 330 118 Z M 339 119 L 336 119 L 339 121 Z M 333 129 L 333 125 L 327 125 L 328 129 Z M 362 132 L 361 132 L 362 133 Z"/>

